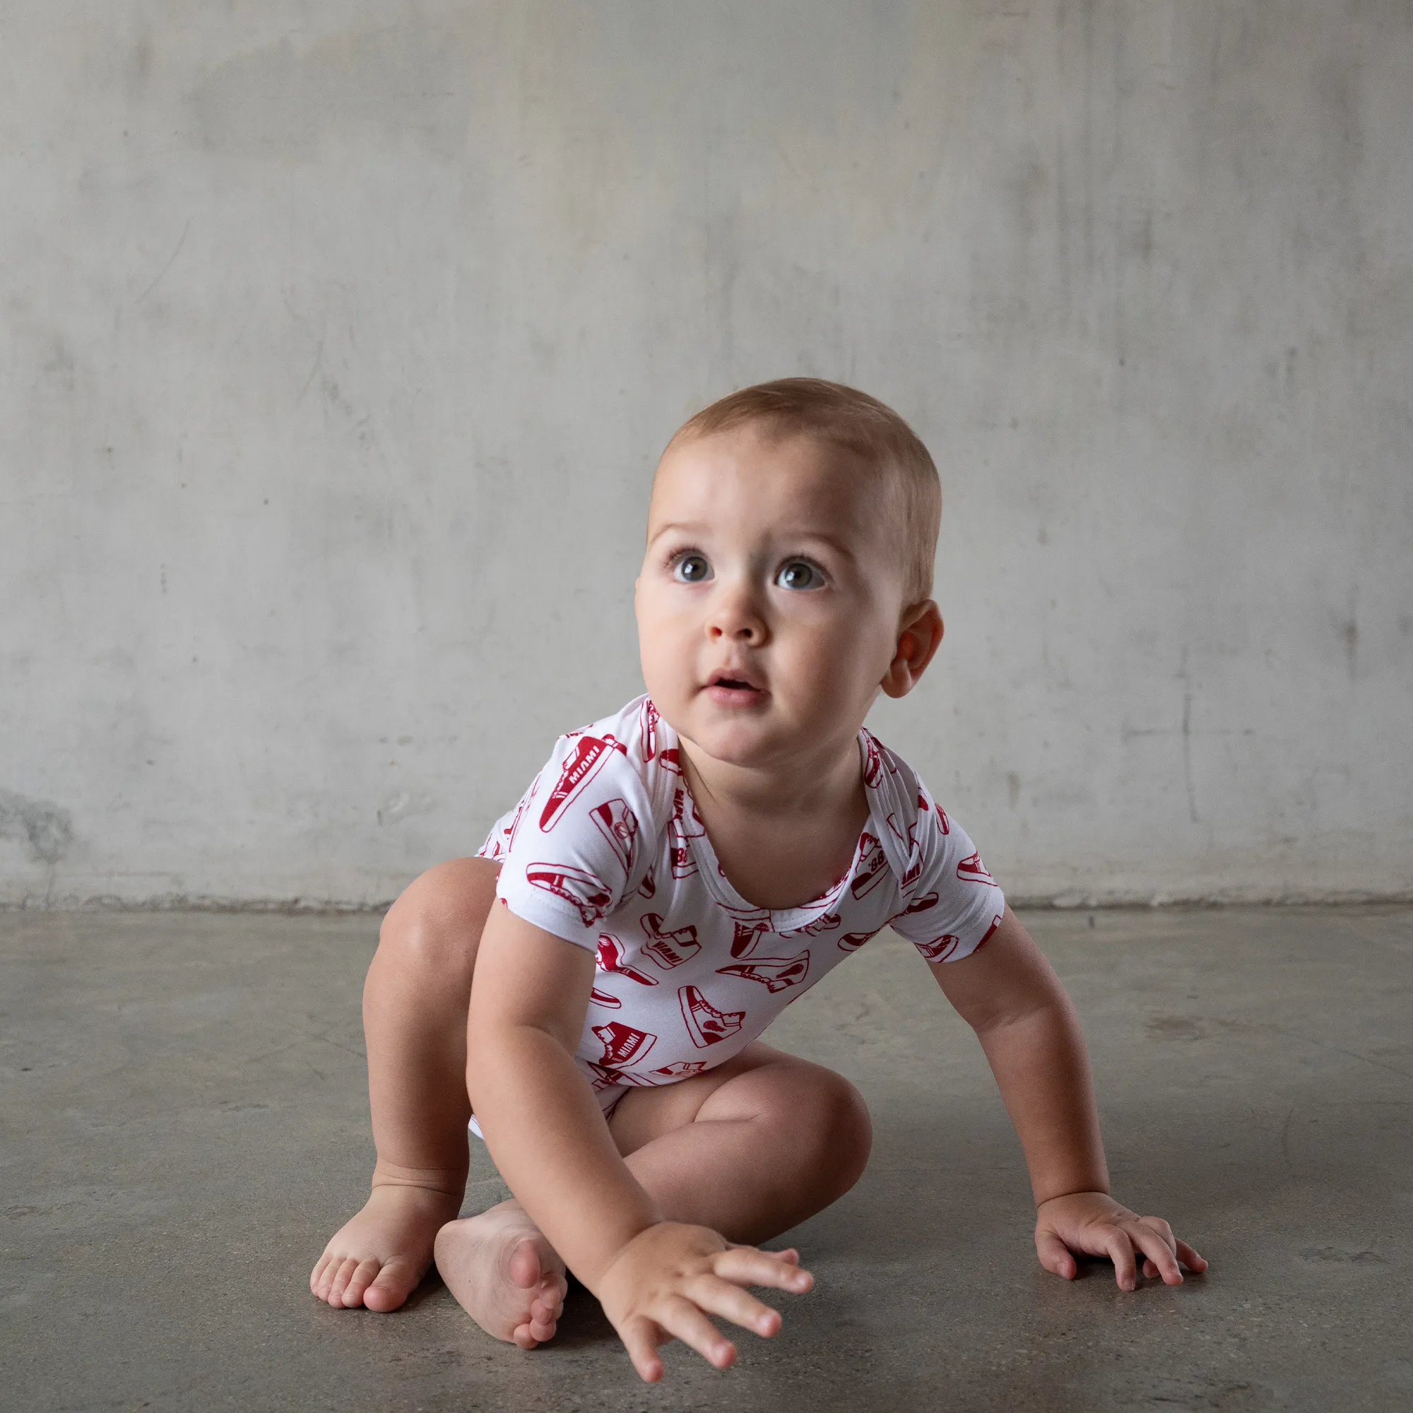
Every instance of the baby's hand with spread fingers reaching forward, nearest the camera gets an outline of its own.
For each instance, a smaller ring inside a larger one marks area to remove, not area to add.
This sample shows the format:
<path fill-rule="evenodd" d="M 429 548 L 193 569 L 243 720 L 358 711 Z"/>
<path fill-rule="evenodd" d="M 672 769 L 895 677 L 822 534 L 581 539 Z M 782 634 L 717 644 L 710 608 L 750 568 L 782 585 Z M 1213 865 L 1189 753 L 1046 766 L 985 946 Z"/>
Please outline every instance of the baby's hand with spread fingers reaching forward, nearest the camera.
<path fill-rule="evenodd" d="M 656 1383 L 663 1376 L 658 1345 L 674 1335 L 718 1369 L 735 1362 L 736 1347 L 704 1311 L 769 1337 L 780 1328 L 780 1313 L 742 1287 L 803 1294 L 812 1284 L 814 1276 L 800 1269 L 794 1251 L 733 1246 L 708 1226 L 658 1222 L 619 1251 L 595 1294 L 633 1368 Z"/>

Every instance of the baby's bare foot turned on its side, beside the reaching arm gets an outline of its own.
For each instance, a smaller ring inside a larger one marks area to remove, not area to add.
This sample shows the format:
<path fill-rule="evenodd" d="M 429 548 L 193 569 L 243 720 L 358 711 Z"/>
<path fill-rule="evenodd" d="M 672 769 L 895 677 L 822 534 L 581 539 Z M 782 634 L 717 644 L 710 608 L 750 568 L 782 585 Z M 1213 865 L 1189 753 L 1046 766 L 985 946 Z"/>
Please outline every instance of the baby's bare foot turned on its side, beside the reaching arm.
<path fill-rule="evenodd" d="M 514 1200 L 437 1234 L 437 1269 L 486 1334 L 533 1349 L 564 1310 L 564 1262 Z"/>

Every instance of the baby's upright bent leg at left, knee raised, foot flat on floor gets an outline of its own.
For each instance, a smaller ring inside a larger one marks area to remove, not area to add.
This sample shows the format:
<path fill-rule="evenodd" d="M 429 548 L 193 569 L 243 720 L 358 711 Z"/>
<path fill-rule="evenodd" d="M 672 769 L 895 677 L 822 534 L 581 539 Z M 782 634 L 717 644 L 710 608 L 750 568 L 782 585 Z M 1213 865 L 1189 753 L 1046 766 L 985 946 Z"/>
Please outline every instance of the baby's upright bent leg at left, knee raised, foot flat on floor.
<path fill-rule="evenodd" d="M 331 1306 L 396 1310 L 466 1187 L 466 1006 L 495 865 L 430 869 L 389 909 L 363 988 L 377 1167 L 363 1210 L 309 1277 Z M 527 1297 L 528 1301 L 528 1297 Z"/>

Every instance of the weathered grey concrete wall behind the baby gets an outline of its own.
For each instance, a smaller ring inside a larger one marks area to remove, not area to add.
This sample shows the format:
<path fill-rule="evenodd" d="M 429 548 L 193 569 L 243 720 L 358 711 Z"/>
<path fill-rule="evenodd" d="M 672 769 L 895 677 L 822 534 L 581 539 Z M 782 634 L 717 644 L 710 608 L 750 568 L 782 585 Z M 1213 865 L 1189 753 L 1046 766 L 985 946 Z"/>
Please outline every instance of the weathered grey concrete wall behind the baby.
<path fill-rule="evenodd" d="M 933 448 L 1015 896 L 1413 889 L 1413 6 L 0 3 L 0 900 L 369 903 L 639 690 L 658 448 Z"/>

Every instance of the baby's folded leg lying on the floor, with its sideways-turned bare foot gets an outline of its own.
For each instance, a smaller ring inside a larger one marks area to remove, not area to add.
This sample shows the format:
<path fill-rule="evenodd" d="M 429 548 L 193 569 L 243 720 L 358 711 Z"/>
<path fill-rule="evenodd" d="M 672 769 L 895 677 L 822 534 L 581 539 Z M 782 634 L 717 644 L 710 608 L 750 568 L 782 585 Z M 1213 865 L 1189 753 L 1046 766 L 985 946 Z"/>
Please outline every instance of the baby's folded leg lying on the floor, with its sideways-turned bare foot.
<path fill-rule="evenodd" d="M 862 1176 L 870 1143 L 868 1109 L 848 1080 L 760 1041 L 709 1074 L 630 1089 L 609 1128 L 670 1221 L 752 1245 L 842 1197 Z M 550 1251 L 509 1201 L 448 1222 L 437 1236 L 437 1269 L 482 1328 L 530 1348 L 554 1332 L 552 1321 L 506 1332 L 496 1300 L 507 1286 L 495 1279 L 493 1256 L 506 1251 L 507 1232 Z"/>

